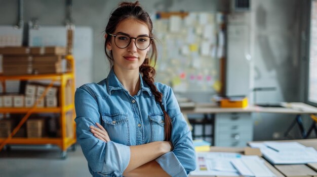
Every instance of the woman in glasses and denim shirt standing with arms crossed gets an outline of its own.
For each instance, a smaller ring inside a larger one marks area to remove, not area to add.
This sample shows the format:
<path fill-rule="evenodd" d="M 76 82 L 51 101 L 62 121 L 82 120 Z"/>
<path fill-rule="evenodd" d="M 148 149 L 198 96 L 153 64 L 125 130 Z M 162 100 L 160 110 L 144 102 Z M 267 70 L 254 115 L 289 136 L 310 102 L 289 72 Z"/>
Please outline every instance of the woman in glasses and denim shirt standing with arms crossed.
<path fill-rule="evenodd" d="M 105 32 L 111 71 L 75 93 L 77 140 L 91 174 L 186 176 L 196 168 L 191 132 L 172 89 L 154 83 L 149 15 L 138 2 L 120 3 Z"/>

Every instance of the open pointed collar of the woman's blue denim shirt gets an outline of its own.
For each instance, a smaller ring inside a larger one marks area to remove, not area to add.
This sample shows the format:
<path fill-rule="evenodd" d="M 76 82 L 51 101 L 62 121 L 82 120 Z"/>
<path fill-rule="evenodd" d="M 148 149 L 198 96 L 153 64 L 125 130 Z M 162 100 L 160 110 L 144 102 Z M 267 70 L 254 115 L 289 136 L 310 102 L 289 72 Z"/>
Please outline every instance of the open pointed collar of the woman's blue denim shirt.
<path fill-rule="evenodd" d="M 152 96 L 151 89 L 145 82 L 143 82 L 143 78 L 140 73 L 139 73 L 139 77 L 140 77 L 140 90 L 137 95 L 139 95 L 141 91 L 145 91 L 149 94 L 149 96 Z M 114 90 L 126 90 L 124 86 L 121 84 L 121 82 L 118 80 L 118 78 L 116 77 L 113 71 L 113 68 L 111 68 L 106 80 L 107 80 L 107 90 L 109 95 L 111 95 L 112 91 Z"/>

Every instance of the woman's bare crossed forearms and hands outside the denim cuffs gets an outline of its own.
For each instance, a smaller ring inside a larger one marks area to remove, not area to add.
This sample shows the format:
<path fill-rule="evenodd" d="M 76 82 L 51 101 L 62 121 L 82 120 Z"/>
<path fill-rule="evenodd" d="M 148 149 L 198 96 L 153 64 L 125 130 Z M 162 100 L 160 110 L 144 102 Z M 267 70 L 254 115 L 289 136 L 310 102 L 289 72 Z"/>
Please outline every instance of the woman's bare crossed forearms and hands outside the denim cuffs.
<path fill-rule="evenodd" d="M 110 141 L 107 131 L 98 123 L 96 126 L 90 126 L 94 136 L 105 143 Z M 130 146 L 131 156 L 124 176 L 170 176 L 155 159 L 172 150 L 173 146 L 169 141 Z"/>

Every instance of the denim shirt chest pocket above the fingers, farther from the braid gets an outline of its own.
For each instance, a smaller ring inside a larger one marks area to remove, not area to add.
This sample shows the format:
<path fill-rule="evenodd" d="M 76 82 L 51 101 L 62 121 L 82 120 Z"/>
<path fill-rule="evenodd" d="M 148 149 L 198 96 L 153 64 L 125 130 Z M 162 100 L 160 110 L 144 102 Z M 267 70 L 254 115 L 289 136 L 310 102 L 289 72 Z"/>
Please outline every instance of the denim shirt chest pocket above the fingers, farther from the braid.
<path fill-rule="evenodd" d="M 103 127 L 109 138 L 115 143 L 130 145 L 130 131 L 128 115 L 124 113 L 101 114 Z"/>

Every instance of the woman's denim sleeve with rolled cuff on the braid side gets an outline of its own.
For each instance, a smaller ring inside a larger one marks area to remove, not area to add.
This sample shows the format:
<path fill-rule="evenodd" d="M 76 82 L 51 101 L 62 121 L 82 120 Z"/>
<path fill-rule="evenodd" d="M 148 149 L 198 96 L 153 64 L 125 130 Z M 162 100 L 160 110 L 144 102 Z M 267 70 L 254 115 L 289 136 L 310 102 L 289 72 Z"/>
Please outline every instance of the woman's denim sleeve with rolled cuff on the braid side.
<path fill-rule="evenodd" d="M 196 168 L 191 132 L 170 87 L 168 87 L 165 99 L 166 110 L 172 120 L 171 142 L 174 149 L 157 158 L 156 162 L 171 176 L 186 176 Z"/>

